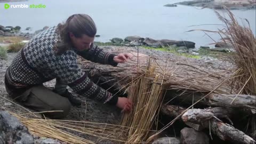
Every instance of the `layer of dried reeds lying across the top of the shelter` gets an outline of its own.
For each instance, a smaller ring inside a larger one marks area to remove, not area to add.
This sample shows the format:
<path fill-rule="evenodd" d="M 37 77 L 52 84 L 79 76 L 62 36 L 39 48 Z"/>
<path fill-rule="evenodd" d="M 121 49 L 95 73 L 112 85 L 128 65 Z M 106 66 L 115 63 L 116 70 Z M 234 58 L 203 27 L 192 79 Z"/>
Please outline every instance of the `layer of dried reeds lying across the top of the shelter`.
<path fill-rule="evenodd" d="M 210 92 L 213 87 L 229 76 L 227 71 L 210 71 L 198 68 L 193 63 L 161 60 L 154 60 L 154 62 L 156 63 L 155 73 L 163 78 L 156 80 L 156 83 L 163 84 L 166 89 Z M 91 68 L 91 71 L 98 71 L 103 77 L 110 77 L 111 81 L 116 81 L 121 85 L 120 87 L 131 85 L 132 80 L 145 73 L 147 67 L 146 63 L 140 63 L 138 66 L 136 61 L 119 63 L 118 67 L 98 65 L 86 60 L 80 63 L 84 69 Z M 150 79 L 150 82 L 154 81 L 154 78 Z M 227 81 L 215 92 L 229 94 L 231 92 L 230 82 Z"/>

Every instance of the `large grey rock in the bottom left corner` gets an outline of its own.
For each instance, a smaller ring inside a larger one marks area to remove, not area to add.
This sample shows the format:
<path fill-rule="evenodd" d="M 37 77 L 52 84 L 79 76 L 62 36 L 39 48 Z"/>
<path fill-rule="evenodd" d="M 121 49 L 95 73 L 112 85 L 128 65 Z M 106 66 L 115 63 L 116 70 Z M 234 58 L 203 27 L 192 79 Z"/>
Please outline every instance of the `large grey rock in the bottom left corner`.
<path fill-rule="evenodd" d="M 0 111 L 0 143 L 34 143 L 34 138 L 16 117 Z"/>

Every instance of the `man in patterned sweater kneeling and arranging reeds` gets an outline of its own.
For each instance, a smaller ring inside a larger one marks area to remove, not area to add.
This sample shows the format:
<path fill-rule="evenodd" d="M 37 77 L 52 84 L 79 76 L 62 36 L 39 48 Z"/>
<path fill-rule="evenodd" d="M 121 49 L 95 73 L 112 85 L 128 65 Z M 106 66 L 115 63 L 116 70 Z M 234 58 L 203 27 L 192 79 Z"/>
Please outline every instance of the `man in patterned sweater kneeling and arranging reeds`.
<path fill-rule="evenodd" d="M 63 24 L 42 31 L 26 44 L 14 58 L 5 74 L 5 87 L 10 97 L 38 111 L 62 110 L 45 113 L 50 118 L 67 116 L 71 105 L 79 106 L 66 89 L 70 86 L 77 94 L 131 110 L 131 101 L 118 98 L 94 84 L 78 67 L 77 54 L 83 58 L 117 66 L 131 58 L 127 53 L 118 55 L 103 51 L 93 44 L 97 29 L 86 14 L 71 15 Z M 56 78 L 54 90 L 43 86 Z"/>

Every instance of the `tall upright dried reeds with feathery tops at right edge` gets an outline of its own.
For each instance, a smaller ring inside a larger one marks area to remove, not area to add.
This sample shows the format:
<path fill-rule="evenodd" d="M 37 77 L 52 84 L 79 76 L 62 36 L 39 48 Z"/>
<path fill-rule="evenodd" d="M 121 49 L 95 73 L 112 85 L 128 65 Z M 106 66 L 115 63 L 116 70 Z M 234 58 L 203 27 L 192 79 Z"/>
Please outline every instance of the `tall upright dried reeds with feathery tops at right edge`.
<path fill-rule="evenodd" d="M 219 31 L 224 42 L 230 43 L 235 53 L 230 55 L 237 67 L 234 75 L 234 86 L 237 94 L 256 95 L 256 38 L 250 28 L 249 21 L 246 26 L 239 25 L 233 13 L 227 10 L 229 19 L 216 12 L 219 19 L 226 25 Z"/>

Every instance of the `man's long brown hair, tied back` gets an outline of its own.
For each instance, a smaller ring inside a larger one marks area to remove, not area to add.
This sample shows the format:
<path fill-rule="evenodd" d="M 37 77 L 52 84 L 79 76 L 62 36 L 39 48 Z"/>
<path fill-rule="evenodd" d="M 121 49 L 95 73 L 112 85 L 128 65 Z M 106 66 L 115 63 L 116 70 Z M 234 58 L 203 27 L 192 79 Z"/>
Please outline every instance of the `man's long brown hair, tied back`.
<path fill-rule="evenodd" d="M 83 34 L 94 37 L 97 28 L 89 15 L 73 14 L 65 23 L 59 23 L 57 33 L 60 34 L 60 42 L 55 45 L 55 53 L 61 54 L 73 46 L 69 33 L 73 33 L 76 38 L 81 38 Z"/>

